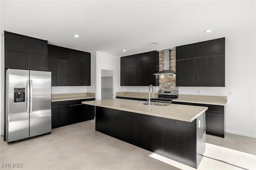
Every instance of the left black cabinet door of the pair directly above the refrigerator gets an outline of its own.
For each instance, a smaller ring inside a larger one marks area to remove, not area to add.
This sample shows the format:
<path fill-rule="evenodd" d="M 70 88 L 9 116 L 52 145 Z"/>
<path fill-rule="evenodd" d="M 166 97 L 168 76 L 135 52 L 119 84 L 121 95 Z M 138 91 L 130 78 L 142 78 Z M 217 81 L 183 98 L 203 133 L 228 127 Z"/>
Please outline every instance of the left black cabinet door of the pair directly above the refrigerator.
<path fill-rule="evenodd" d="M 28 53 L 5 51 L 5 68 L 28 69 Z"/>

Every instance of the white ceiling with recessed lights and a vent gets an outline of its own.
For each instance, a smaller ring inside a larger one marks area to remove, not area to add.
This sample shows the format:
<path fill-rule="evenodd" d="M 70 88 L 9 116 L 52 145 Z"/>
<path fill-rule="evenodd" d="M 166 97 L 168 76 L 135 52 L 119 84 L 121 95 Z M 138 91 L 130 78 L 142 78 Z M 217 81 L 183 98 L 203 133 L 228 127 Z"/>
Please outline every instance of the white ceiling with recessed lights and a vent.
<path fill-rule="evenodd" d="M 3 30 L 122 57 L 255 31 L 255 0 L 2 0 Z M 152 42 L 159 45 L 147 45 Z"/>

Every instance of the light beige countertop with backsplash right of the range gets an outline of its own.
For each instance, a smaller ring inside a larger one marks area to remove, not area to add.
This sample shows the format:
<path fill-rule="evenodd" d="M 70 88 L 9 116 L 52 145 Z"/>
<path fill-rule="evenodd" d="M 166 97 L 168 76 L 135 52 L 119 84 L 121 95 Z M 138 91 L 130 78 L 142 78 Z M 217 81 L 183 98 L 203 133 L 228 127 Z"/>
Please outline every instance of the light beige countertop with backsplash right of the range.
<path fill-rule="evenodd" d="M 174 99 L 174 102 L 186 102 L 186 103 L 198 103 L 198 104 L 211 104 L 225 106 L 227 104 L 227 96 L 203 96 L 203 95 L 188 95 L 179 94 L 178 99 Z"/>

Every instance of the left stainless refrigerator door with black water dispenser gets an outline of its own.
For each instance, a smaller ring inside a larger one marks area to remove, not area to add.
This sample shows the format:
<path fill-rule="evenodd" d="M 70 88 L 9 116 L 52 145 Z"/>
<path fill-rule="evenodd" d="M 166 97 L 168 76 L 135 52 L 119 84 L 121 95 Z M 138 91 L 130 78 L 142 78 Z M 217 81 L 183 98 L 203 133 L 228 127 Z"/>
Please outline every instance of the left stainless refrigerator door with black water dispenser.
<path fill-rule="evenodd" d="M 6 141 L 29 137 L 29 71 L 6 70 Z"/>

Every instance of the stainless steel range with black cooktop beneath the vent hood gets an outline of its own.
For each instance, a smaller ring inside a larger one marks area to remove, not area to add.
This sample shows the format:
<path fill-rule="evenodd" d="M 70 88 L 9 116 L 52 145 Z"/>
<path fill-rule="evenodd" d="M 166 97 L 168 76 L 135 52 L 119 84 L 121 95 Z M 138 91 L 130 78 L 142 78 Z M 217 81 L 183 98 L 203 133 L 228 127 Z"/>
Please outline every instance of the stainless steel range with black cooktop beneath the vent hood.
<path fill-rule="evenodd" d="M 172 103 L 178 98 L 178 90 L 158 90 L 158 98 L 152 98 L 151 102 Z"/>

